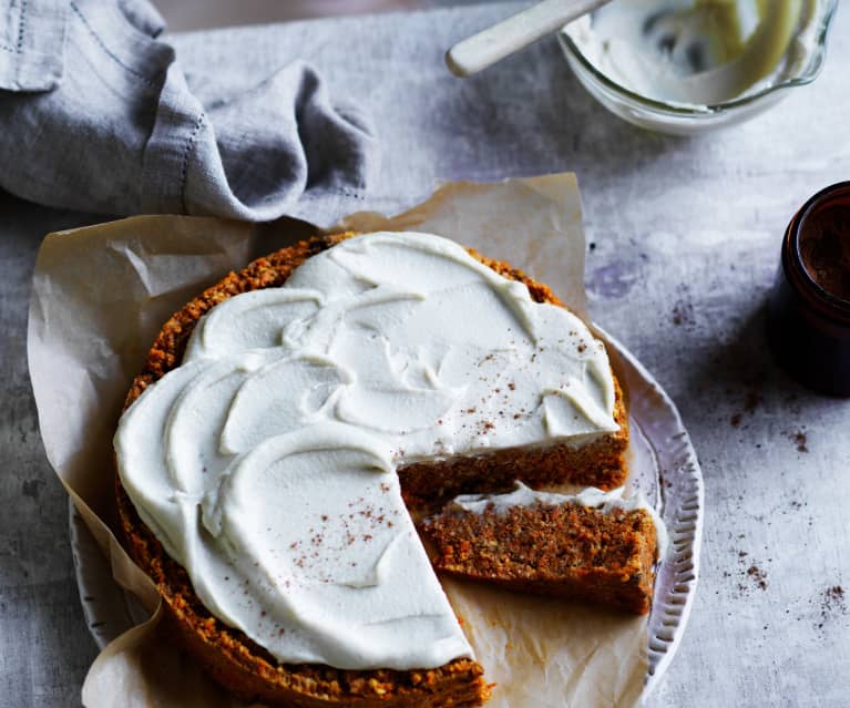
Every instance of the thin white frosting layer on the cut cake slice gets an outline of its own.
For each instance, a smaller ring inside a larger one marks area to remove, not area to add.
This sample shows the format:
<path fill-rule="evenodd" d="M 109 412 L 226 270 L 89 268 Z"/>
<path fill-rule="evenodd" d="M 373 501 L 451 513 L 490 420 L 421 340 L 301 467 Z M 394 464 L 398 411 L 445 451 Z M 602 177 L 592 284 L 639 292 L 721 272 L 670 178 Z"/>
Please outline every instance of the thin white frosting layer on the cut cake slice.
<path fill-rule="evenodd" d="M 634 496 L 624 496 L 625 488 L 618 486 L 610 492 L 604 492 L 595 486 L 583 489 L 576 494 L 561 492 L 535 491 L 519 480 L 514 482 L 514 489 L 504 494 L 461 494 L 455 496 L 450 505 L 453 509 L 481 514 L 488 509 L 496 513 L 505 513 L 514 506 L 560 506 L 561 504 L 578 504 L 588 509 L 596 509 L 603 514 L 608 514 L 615 509 L 631 512 L 645 511 L 653 520 L 657 545 L 657 557 L 664 558 L 669 543 L 667 527 L 664 525 L 658 512 L 653 509 L 646 497 L 637 493 Z"/>

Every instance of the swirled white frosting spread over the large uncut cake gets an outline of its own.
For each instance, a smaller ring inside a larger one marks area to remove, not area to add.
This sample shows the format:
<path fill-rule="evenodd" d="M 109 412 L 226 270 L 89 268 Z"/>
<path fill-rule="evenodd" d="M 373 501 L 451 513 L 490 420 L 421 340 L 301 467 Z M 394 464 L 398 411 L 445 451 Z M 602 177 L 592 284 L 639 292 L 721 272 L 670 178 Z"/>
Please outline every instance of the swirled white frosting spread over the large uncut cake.
<path fill-rule="evenodd" d="M 398 466 L 617 430 L 607 355 L 448 239 L 345 240 L 196 325 L 115 435 L 122 484 L 204 605 L 280 661 L 472 650 Z"/>

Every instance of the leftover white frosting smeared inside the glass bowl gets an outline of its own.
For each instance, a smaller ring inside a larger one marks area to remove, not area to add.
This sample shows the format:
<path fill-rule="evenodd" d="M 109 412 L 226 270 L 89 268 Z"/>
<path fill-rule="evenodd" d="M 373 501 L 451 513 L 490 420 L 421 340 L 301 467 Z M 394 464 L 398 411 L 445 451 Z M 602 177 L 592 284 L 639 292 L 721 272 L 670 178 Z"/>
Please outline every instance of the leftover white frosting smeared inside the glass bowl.
<path fill-rule="evenodd" d="M 566 25 L 625 89 L 707 109 L 793 76 L 815 48 L 819 0 L 615 0 Z"/>

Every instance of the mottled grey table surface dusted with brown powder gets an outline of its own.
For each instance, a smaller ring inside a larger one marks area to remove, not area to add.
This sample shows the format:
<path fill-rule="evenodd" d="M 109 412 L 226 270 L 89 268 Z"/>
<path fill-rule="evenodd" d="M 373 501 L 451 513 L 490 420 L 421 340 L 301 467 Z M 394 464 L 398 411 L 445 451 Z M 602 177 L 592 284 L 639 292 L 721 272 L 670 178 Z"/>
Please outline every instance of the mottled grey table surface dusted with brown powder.
<path fill-rule="evenodd" d="M 305 57 L 369 105 L 385 164 L 365 206 L 396 211 L 441 178 L 574 170 L 592 314 L 677 401 L 706 479 L 698 596 L 651 705 L 846 706 L 850 613 L 831 588 L 850 584 L 850 401 L 777 370 L 762 309 L 789 217 L 850 176 L 850 13 L 840 9 L 813 85 L 750 123 L 683 140 L 604 112 L 554 41 L 467 82 L 448 75 L 443 49 L 509 10 L 247 28 L 178 44 L 211 91 L 238 75 L 218 71 L 226 63 L 256 76 Z M 96 654 L 25 361 L 41 237 L 95 220 L 0 195 L 0 706 L 78 706 Z"/>

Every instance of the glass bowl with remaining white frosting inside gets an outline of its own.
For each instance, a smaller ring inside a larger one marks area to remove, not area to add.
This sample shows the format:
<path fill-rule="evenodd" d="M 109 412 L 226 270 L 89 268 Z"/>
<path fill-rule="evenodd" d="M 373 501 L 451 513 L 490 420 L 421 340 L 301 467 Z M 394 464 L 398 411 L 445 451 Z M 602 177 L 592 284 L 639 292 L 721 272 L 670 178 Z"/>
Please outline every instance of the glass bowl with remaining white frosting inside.
<path fill-rule="evenodd" d="M 559 34 L 587 91 L 673 134 L 739 122 L 813 81 L 837 0 L 614 0 Z"/>

